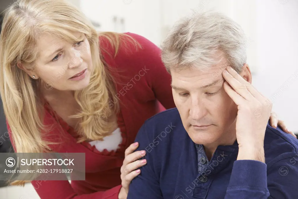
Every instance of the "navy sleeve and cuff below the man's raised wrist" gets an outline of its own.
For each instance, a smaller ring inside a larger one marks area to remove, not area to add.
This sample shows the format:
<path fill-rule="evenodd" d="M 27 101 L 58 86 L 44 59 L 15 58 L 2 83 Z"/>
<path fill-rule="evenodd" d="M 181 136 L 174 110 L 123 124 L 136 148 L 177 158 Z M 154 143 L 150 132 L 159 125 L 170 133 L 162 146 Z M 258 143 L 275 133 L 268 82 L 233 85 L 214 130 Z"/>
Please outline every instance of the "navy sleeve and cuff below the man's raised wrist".
<path fill-rule="evenodd" d="M 293 189 L 298 179 L 297 157 L 283 158 L 269 168 L 259 161 L 235 161 L 225 199 L 297 198 Z"/>

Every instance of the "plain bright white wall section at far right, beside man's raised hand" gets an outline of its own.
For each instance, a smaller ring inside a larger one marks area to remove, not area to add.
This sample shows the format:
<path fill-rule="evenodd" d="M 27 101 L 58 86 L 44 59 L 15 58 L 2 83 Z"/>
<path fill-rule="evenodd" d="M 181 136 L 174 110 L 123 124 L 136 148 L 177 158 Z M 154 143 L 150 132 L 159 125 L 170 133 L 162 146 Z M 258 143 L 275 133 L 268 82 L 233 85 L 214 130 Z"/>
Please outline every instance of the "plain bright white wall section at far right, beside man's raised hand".
<path fill-rule="evenodd" d="M 298 133 L 298 1 L 257 1 L 257 66 L 253 85 L 271 98 L 288 129 Z"/>

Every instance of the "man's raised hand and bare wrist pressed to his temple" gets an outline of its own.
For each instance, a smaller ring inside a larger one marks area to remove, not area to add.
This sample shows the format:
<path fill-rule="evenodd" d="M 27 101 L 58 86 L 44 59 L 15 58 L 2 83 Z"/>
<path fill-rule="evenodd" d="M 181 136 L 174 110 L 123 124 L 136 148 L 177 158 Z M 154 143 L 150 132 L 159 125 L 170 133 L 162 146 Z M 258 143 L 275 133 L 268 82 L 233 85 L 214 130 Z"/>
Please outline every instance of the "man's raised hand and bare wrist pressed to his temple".
<path fill-rule="evenodd" d="M 272 104 L 232 67 L 223 71 L 224 89 L 238 105 L 236 137 L 239 144 L 237 160 L 265 163 L 264 136 Z"/>

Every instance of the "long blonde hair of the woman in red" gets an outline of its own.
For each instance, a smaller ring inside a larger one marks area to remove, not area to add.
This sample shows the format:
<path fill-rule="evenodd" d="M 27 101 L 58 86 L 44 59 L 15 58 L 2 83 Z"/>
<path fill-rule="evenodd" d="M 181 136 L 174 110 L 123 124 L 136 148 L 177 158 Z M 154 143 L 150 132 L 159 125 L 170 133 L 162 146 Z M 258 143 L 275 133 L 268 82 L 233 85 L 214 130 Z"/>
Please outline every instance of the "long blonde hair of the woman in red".
<path fill-rule="evenodd" d="M 100 59 L 99 37 L 108 39 L 116 56 L 121 38 L 129 36 L 97 33 L 86 16 L 66 0 L 18 0 L 5 10 L 0 36 L 0 92 L 16 152 L 50 152 L 50 145 L 58 144 L 43 139 L 42 133 L 49 131 L 49 127 L 43 124 L 44 101 L 38 92 L 39 82 L 17 64 L 33 69 L 38 56 L 36 42 L 42 33 L 77 41 L 71 34 L 73 31 L 86 35 L 94 66 L 89 85 L 75 91 L 75 100 L 81 107 L 81 112 L 73 116 L 81 121 L 78 142 L 100 140 L 114 127 L 110 118 L 118 112 L 119 104 L 108 107 L 111 96 L 116 95 L 116 86 L 110 69 Z M 105 111 L 104 117 L 98 117 L 103 115 L 102 111 Z"/>

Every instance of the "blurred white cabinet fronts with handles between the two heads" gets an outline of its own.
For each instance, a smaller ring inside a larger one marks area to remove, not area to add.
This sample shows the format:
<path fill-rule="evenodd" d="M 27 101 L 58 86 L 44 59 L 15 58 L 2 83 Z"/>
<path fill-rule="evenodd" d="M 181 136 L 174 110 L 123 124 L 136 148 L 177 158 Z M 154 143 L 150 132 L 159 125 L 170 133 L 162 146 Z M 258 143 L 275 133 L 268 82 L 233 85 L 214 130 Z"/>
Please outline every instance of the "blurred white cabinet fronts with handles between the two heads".
<path fill-rule="evenodd" d="M 132 32 L 159 45 L 161 42 L 159 4 L 159 0 L 85 0 L 80 1 L 80 9 L 91 20 L 100 23 L 101 27 L 98 29 L 100 31 Z M 122 19 L 124 24 L 121 23 Z"/>

